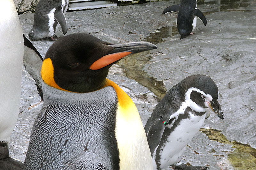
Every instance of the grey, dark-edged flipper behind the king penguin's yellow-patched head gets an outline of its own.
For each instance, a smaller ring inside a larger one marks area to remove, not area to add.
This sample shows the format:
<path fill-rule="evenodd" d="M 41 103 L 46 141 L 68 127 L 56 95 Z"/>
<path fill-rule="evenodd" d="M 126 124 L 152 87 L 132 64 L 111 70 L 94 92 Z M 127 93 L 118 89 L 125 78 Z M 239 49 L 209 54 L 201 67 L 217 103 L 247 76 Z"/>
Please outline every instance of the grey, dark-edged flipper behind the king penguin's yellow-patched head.
<path fill-rule="evenodd" d="M 24 56 L 23 56 L 23 66 L 27 70 L 28 74 L 36 82 L 36 87 L 38 94 L 43 100 L 43 91 L 42 91 L 42 83 L 41 79 L 41 66 L 43 63 L 43 57 L 36 50 L 35 46 L 27 39 L 27 37 L 23 34 L 24 39 Z"/>

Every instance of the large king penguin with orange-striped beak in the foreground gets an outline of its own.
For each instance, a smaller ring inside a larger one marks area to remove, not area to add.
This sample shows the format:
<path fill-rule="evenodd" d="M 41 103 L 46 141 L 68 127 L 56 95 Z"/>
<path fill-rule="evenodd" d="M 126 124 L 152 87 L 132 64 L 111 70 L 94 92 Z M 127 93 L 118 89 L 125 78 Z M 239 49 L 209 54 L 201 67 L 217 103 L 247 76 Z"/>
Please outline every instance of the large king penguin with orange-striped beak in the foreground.
<path fill-rule="evenodd" d="M 44 104 L 24 170 L 152 170 L 138 110 L 106 76 L 124 56 L 156 48 L 148 42 L 113 45 L 85 33 L 55 41 L 41 68 Z"/>

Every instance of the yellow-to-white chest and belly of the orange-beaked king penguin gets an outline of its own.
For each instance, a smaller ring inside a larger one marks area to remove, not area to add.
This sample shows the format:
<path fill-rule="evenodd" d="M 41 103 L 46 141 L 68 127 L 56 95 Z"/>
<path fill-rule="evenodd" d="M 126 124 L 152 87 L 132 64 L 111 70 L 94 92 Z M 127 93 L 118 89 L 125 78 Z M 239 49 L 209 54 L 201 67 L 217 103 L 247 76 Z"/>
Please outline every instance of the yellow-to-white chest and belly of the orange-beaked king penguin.
<path fill-rule="evenodd" d="M 116 141 L 120 170 L 153 170 L 146 132 L 132 99 L 113 81 L 106 80 L 117 94 Z"/>

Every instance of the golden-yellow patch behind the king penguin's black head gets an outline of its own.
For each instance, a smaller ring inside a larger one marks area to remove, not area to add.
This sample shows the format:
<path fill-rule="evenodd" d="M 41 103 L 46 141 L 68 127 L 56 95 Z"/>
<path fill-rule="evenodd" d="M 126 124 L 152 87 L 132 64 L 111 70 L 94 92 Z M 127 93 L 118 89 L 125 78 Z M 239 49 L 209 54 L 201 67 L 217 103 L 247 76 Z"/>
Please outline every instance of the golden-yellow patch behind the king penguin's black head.
<path fill-rule="evenodd" d="M 54 68 L 52 65 L 52 60 L 50 58 L 47 58 L 43 61 L 42 68 L 41 68 L 41 77 L 43 81 L 48 84 L 51 87 L 54 87 L 56 89 L 60 89 L 63 91 L 68 91 L 65 89 L 62 89 L 56 82 L 54 81 Z"/>

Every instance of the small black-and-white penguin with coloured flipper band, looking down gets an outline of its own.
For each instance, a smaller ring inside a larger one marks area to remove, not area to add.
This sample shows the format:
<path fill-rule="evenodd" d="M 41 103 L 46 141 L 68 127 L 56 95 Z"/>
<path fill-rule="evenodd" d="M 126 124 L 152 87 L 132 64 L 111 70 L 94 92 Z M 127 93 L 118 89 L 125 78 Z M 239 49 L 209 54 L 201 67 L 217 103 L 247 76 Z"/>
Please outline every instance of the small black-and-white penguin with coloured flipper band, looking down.
<path fill-rule="evenodd" d="M 208 108 L 223 119 L 218 96 L 214 81 L 200 74 L 186 77 L 168 91 L 145 125 L 154 170 L 168 166 L 175 170 L 208 168 L 187 166 L 181 158 L 188 142 L 202 127 Z"/>

